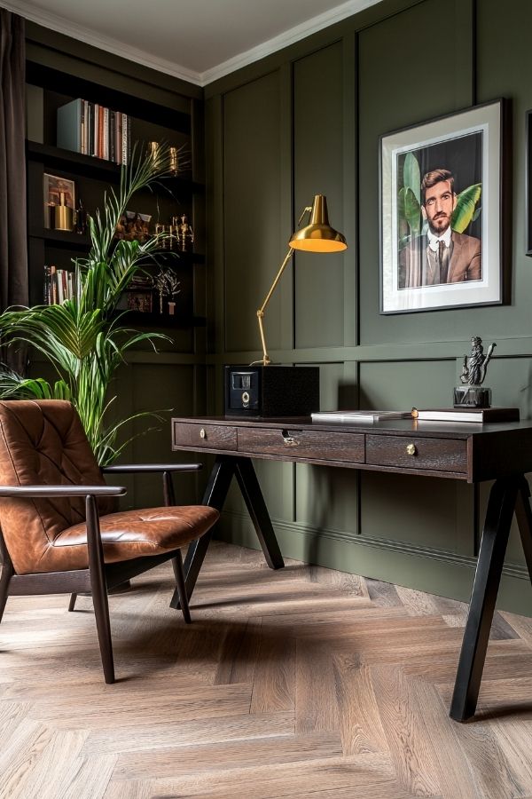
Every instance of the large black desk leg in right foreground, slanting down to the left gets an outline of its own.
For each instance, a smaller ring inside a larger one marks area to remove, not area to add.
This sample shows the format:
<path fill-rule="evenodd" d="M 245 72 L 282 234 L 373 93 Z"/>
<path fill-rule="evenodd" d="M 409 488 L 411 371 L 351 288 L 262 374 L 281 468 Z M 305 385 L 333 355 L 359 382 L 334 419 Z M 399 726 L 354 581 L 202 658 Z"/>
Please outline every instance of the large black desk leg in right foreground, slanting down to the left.
<path fill-rule="evenodd" d="M 455 721 L 463 722 L 471 718 L 476 709 L 510 525 L 513 511 L 516 510 L 518 493 L 521 496 L 523 491 L 523 480 L 519 476 L 498 479 L 489 494 L 457 678 L 450 703 L 450 717 Z"/>

